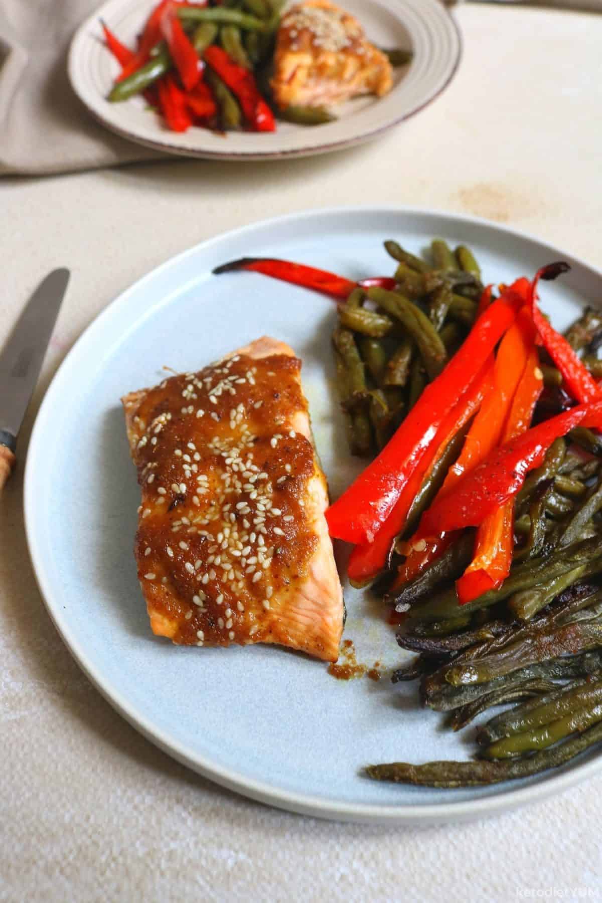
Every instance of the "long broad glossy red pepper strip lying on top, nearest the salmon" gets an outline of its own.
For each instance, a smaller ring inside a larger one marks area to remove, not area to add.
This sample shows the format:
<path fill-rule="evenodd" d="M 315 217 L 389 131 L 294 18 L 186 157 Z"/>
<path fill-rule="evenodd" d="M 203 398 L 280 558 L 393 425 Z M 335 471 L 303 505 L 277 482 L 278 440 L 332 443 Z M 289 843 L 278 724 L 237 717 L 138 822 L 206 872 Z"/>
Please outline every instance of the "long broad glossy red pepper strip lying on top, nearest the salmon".
<path fill-rule="evenodd" d="M 326 519 L 330 535 L 350 543 L 374 539 L 423 454 L 435 441 L 443 418 L 512 325 L 521 303 L 509 290 L 481 314 L 447 366 L 426 386 L 391 441 L 329 507 Z"/>

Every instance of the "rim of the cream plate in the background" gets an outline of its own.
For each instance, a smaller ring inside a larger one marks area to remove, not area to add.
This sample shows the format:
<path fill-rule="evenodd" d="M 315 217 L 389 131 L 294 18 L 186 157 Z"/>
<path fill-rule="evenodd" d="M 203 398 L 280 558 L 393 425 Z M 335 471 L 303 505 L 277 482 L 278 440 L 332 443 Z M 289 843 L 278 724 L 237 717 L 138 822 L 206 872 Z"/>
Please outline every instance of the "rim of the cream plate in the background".
<path fill-rule="evenodd" d="M 87 19 L 84 20 L 79 25 L 79 28 L 73 34 L 70 42 L 69 42 L 69 54 L 68 54 L 68 75 L 69 75 L 69 84 L 71 89 L 79 98 L 79 101 L 86 107 L 90 116 L 94 118 L 94 120 L 101 126 L 109 129 L 109 131 L 113 132 L 115 135 L 119 135 L 119 137 L 123 138 L 125 141 L 134 142 L 134 144 L 140 144 L 143 147 L 147 147 L 153 151 L 162 152 L 164 154 L 173 154 L 175 156 L 181 157 L 189 157 L 190 159 L 195 160 L 223 160 L 230 163 L 240 163 L 243 161 L 262 161 L 262 160 L 292 160 L 295 157 L 306 157 L 306 156 L 314 156 L 318 154 L 330 154 L 336 151 L 344 150 L 347 147 L 357 147 L 359 144 L 366 144 L 368 141 L 372 141 L 377 138 L 379 135 L 383 135 L 384 132 L 387 132 L 389 129 L 394 128 L 395 126 L 400 126 L 403 122 L 408 119 L 411 119 L 412 116 L 415 116 L 417 113 L 420 113 L 425 107 L 429 107 L 431 103 L 440 97 L 440 95 L 449 88 L 450 83 L 458 74 L 459 65 L 464 56 L 464 42 L 462 38 L 462 32 L 456 21 L 455 16 L 453 15 L 451 9 L 448 6 L 440 4 L 439 0 L 426 0 L 426 2 L 431 3 L 433 7 L 441 7 L 443 13 L 448 17 L 449 23 L 452 25 L 452 30 L 455 33 L 456 37 L 456 50 L 455 50 L 455 59 L 453 61 L 453 65 L 451 70 L 449 71 L 449 75 L 447 79 L 440 85 L 436 91 L 434 91 L 428 98 L 426 98 L 421 104 L 417 107 L 412 107 L 412 109 L 403 114 L 403 116 L 396 116 L 391 119 L 389 122 L 385 123 L 383 126 L 377 126 L 376 128 L 369 129 L 366 132 L 362 132 L 361 135 L 357 135 L 352 138 L 343 138 L 339 141 L 331 141 L 328 144 L 309 144 L 304 147 L 293 148 L 291 150 L 282 150 L 282 151 L 211 151 L 211 150 L 195 150 L 194 148 L 184 148 L 179 147 L 176 144 L 171 144 L 169 140 L 164 141 L 154 141 L 150 138 L 143 138 L 139 135 L 135 135 L 134 132 L 128 131 L 126 128 L 122 128 L 121 126 L 116 125 L 108 116 L 103 116 L 97 109 L 91 107 L 88 104 L 88 100 L 84 96 L 83 92 L 80 89 L 79 78 L 75 71 L 75 57 L 77 51 L 77 43 L 79 42 L 80 35 L 85 32 L 86 29 L 90 26 L 91 23 L 96 22 L 99 15 L 103 14 L 103 10 L 105 8 L 106 3 L 100 6 L 97 10 L 95 10 L 92 14 L 88 16 Z M 403 0 L 402 0 L 403 2 Z M 424 2 L 424 0 L 422 0 Z M 169 135 L 169 133 L 165 133 Z"/>

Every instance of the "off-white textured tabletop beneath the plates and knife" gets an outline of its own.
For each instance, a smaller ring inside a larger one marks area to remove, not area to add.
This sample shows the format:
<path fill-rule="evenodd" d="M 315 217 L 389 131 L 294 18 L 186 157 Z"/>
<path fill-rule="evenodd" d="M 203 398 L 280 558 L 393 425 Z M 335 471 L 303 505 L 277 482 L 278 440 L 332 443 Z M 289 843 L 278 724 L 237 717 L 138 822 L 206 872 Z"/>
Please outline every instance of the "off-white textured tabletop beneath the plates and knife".
<path fill-rule="evenodd" d="M 375 144 L 0 181 L 0 343 L 47 271 L 73 273 L 22 459 L 81 330 L 147 270 L 227 228 L 311 206 L 412 204 L 524 228 L 602 267 L 602 15 L 463 5 L 458 20 L 458 77 Z M 0 498 L 0 899 L 602 897 L 602 774 L 495 819 L 392 829 L 278 812 L 169 759 L 88 684 L 52 627 L 22 490 L 21 467 Z"/>

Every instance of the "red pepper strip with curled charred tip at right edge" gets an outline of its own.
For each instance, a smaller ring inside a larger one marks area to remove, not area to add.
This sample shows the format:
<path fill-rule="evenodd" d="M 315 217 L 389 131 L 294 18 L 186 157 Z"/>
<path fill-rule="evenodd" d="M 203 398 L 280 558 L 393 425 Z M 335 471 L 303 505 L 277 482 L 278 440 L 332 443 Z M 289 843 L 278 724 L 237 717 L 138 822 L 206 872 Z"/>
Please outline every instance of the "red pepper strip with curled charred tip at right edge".
<path fill-rule="evenodd" d="M 566 273 L 570 269 L 568 264 L 560 263 L 542 266 L 538 270 L 531 284 L 530 303 L 533 322 L 539 332 L 543 345 L 550 354 L 552 360 L 559 368 L 569 394 L 581 404 L 602 397 L 602 390 L 596 380 L 583 366 L 569 342 L 557 332 L 549 323 L 537 305 L 537 284 L 540 279 L 555 279 L 560 273 Z"/>

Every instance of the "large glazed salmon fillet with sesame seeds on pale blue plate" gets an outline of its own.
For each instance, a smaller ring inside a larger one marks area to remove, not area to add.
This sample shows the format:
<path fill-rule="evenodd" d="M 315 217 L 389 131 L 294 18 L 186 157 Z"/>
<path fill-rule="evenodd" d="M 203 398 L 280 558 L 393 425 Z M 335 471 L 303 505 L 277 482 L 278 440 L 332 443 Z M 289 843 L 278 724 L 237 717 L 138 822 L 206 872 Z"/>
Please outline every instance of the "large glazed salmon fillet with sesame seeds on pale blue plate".
<path fill-rule="evenodd" d="M 300 374 L 288 345 L 263 338 L 122 399 L 142 489 L 138 579 L 158 636 L 337 660 L 343 595 Z"/>

